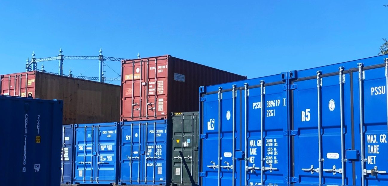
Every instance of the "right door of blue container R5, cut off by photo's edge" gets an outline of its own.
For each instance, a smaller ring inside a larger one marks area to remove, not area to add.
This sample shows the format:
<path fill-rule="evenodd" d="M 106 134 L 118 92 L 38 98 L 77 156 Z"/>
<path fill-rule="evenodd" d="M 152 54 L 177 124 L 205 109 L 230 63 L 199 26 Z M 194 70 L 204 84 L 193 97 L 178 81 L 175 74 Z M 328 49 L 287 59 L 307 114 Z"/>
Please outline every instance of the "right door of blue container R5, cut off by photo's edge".
<path fill-rule="evenodd" d="M 388 185 L 387 88 L 388 69 L 359 66 L 354 72 L 355 148 L 357 185 Z M 360 91 L 361 90 L 361 91 Z M 361 105 L 360 102 L 363 104 Z M 358 107 L 357 107 L 358 105 Z M 364 120 L 360 120 L 363 117 Z M 360 128 L 362 131 L 360 131 Z"/>

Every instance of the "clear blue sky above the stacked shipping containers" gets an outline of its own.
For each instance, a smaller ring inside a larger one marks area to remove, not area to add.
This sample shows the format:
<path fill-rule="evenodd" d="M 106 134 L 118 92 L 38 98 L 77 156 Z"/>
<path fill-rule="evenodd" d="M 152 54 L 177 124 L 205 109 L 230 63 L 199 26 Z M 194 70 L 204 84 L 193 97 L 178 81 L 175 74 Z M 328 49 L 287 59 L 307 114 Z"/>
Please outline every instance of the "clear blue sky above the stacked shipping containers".
<path fill-rule="evenodd" d="M 5 1 L 0 74 L 58 55 L 170 54 L 248 78 L 375 56 L 388 38 L 388 1 Z M 107 62 L 120 73 L 120 62 Z M 42 64 L 38 63 L 40 68 Z M 57 61 L 45 62 L 57 72 Z M 64 73 L 98 75 L 98 61 Z M 108 69 L 107 77 L 117 74 Z M 120 82 L 116 82 L 120 83 Z"/>

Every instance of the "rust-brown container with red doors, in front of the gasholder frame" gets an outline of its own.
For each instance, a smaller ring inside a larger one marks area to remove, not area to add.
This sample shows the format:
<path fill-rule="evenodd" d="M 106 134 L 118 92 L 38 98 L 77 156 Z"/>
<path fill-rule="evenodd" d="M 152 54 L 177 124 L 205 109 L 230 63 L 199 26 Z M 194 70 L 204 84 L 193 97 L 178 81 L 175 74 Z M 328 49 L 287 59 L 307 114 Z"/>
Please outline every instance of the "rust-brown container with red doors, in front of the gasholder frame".
<path fill-rule="evenodd" d="M 1 95 L 64 100 L 63 124 L 120 120 L 118 85 L 31 71 L 1 75 L 0 90 Z"/>

